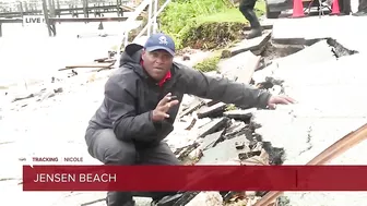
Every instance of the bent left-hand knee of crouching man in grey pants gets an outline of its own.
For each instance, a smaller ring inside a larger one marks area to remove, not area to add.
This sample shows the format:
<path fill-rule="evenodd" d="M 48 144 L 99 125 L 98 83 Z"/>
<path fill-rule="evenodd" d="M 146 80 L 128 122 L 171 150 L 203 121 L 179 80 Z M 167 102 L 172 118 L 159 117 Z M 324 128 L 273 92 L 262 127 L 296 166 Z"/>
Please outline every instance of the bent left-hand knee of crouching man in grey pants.
<path fill-rule="evenodd" d="M 137 152 L 133 143 L 116 138 L 113 130 L 97 130 L 88 144 L 90 154 L 106 165 L 134 165 Z"/>

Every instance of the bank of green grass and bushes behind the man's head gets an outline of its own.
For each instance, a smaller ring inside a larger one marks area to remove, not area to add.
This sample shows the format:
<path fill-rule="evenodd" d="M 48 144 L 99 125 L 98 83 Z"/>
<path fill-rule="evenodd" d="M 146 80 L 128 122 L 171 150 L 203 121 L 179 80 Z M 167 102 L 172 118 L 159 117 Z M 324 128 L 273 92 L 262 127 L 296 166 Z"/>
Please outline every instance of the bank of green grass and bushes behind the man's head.
<path fill-rule="evenodd" d="M 263 15 L 264 1 L 258 0 L 254 10 L 258 16 Z M 177 49 L 223 47 L 241 38 L 242 27 L 248 24 L 229 0 L 173 0 L 159 22 L 162 32 L 174 38 Z"/>

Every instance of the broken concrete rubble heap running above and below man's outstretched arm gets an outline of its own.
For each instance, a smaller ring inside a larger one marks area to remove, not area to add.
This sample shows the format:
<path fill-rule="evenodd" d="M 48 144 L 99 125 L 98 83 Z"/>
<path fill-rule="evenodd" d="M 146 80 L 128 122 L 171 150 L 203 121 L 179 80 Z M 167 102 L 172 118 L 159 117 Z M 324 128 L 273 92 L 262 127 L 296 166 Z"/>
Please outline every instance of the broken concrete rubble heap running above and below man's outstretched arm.
<path fill-rule="evenodd" d="M 277 74 L 280 64 L 285 66 L 301 54 L 313 53 L 315 49 L 325 51 L 324 59 L 334 58 L 332 48 L 327 40 L 320 40 L 311 47 L 284 50 L 286 54 L 280 59 L 268 59 L 251 51 L 238 53 L 229 59 L 221 60 L 220 72 L 209 75 L 221 75 L 240 83 L 250 83 L 273 95 L 284 94 L 284 80 Z M 297 52 L 300 51 L 300 52 Z M 296 52 L 296 53 L 294 53 Z M 289 56 L 292 54 L 292 56 Z M 287 57 L 288 56 L 288 57 Z M 263 59 L 263 58 L 262 58 Z M 268 61 L 267 60 L 267 61 Z M 267 63 L 267 65 L 261 65 Z M 230 66 L 228 66 L 228 64 Z M 263 68 L 261 68 L 263 66 Z M 261 134 L 261 124 L 256 122 L 256 108 L 238 108 L 234 105 L 185 96 L 175 130 L 166 137 L 173 152 L 186 165 L 282 165 L 285 150 L 265 142 Z M 265 195 L 267 191 L 227 191 L 227 192 L 186 192 L 169 199 L 165 205 L 254 205 Z M 161 205 L 159 204 L 159 205 Z"/>

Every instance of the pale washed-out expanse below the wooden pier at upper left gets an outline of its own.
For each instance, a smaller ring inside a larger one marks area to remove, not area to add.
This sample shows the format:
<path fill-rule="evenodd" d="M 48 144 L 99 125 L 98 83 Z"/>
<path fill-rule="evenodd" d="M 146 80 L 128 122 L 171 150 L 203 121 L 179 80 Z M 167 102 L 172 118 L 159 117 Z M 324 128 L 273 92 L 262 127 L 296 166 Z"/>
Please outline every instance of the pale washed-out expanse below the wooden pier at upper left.
<path fill-rule="evenodd" d="M 108 50 L 120 45 L 125 29 L 138 26 L 135 22 L 107 22 L 103 23 L 104 29 L 98 31 L 98 24 L 57 24 L 56 37 L 49 37 L 44 25 L 3 24 L 0 86 L 44 81 L 66 65 L 91 63 L 104 58 Z M 99 37 L 99 34 L 108 36 Z"/>

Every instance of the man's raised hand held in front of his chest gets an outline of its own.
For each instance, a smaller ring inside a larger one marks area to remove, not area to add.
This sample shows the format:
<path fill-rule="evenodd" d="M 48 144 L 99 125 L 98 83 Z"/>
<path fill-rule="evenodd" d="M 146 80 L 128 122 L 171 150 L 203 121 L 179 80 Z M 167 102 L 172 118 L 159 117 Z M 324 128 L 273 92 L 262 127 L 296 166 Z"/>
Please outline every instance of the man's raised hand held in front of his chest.
<path fill-rule="evenodd" d="M 169 108 L 177 105 L 178 100 L 173 100 L 173 96 L 168 93 L 157 105 L 157 107 L 152 112 L 152 120 L 154 122 L 163 121 L 166 118 L 169 118 L 167 113 Z"/>

